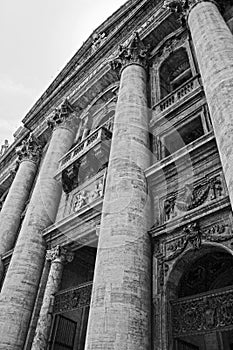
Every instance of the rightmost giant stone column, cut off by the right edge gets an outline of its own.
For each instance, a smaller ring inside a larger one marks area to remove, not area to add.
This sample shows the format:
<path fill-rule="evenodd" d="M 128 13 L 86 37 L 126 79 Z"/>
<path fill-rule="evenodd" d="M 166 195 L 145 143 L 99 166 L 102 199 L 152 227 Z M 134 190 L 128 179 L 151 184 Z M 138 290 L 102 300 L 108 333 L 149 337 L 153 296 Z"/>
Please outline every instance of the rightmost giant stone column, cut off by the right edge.
<path fill-rule="evenodd" d="M 233 36 L 214 0 L 189 0 L 185 8 L 183 4 L 165 1 L 186 16 L 233 206 Z"/>

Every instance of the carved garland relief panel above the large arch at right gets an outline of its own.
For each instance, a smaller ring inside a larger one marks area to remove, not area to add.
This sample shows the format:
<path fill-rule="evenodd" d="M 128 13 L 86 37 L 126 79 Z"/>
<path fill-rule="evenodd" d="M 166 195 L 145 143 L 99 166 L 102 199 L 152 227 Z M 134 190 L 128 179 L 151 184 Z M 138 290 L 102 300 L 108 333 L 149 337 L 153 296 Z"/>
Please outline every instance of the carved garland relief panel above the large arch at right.
<path fill-rule="evenodd" d="M 219 199 L 224 195 L 224 187 L 220 175 L 204 179 L 200 184 L 186 184 L 179 193 L 170 194 L 164 200 L 163 221 L 169 221 L 200 205 Z"/>

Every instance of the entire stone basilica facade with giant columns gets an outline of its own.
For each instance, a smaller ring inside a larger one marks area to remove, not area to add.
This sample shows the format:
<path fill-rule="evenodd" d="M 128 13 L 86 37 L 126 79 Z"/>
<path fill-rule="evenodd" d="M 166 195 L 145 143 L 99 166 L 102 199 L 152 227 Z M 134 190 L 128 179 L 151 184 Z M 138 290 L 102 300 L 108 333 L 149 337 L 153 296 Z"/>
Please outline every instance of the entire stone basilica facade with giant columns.
<path fill-rule="evenodd" d="M 0 155 L 0 350 L 233 349 L 233 3 L 129 0 Z"/>

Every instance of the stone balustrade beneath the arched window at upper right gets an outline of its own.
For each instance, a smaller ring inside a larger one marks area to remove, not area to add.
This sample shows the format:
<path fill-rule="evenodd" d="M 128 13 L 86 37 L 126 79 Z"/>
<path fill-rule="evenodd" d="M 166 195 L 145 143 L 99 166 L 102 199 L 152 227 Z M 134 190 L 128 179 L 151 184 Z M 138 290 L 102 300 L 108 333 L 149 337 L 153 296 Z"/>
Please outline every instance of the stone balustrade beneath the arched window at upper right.
<path fill-rule="evenodd" d="M 165 114 L 169 112 L 170 109 L 174 109 L 174 106 L 184 102 L 201 90 L 202 87 L 199 82 L 199 76 L 196 75 L 155 104 L 153 106 L 153 111 L 156 116 Z"/>

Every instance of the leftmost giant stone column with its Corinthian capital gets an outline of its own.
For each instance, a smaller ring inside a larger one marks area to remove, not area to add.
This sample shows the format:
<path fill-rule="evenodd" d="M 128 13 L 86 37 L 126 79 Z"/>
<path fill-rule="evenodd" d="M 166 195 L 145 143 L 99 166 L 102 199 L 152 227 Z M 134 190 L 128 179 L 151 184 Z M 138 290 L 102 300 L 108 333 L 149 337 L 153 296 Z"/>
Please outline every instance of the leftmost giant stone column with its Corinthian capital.
<path fill-rule="evenodd" d="M 17 153 L 19 168 L 0 212 L 0 256 L 12 249 L 15 243 L 21 215 L 35 178 L 41 146 L 31 134 Z"/>

